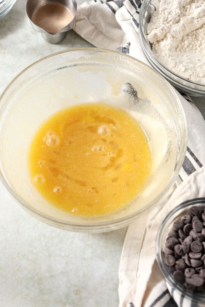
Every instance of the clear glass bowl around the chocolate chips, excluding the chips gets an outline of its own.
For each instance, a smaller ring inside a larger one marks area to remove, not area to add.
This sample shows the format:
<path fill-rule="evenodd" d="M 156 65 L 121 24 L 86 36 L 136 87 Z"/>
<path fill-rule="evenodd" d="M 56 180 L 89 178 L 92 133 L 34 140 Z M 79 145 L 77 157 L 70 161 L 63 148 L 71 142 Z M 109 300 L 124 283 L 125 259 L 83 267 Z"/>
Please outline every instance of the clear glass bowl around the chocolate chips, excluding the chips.
<path fill-rule="evenodd" d="M 187 290 L 182 284 L 176 282 L 164 261 L 164 247 L 168 232 L 171 231 L 174 221 L 180 220 L 181 216 L 187 214 L 192 206 L 205 208 L 205 197 L 187 200 L 171 210 L 165 217 L 156 237 L 156 260 L 165 278 L 167 288 L 178 306 L 180 306 L 181 295 L 184 296 L 184 300 L 187 300 L 187 304 L 193 301 L 197 302 L 199 306 L 205 306 L 205 293 Z"/>

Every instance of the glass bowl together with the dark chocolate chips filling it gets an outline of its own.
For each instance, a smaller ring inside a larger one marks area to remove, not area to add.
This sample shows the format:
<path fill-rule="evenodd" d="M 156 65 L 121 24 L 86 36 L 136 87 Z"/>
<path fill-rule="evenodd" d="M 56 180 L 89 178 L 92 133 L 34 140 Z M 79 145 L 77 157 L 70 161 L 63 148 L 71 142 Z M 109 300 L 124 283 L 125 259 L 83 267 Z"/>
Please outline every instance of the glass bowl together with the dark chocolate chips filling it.
<path fill-rule="evenodd" d="M 178 306 L 182 295 L 187 304 L 205 306 L 204 197 L 179 204 L 165 217 L 156 238 L 156 259 Z"/>

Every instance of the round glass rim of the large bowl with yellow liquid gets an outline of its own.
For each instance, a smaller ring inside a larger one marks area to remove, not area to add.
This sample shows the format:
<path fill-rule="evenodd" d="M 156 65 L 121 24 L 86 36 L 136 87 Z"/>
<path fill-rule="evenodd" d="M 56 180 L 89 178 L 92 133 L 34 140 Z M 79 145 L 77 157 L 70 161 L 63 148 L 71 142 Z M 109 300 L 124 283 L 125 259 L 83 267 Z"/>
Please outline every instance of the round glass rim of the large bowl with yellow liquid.
<path fill-rule="evenodd" d="M 86 52 L 86 51 L 97 51 L 97 52 L 112 52 L 115 53 L 116 55 L 121 55 L 121 56 L 125 56 L 128 58 L 131 58 L 132 60 L 134 60 L 136 63 L 140 63 L 140 65 L 144 65 L 146 66 L 149 70 L 152 71 L 152 73 L 157 74 L 160 78 L 163 79 L 163 81 L 167 84 L 167 86 L 169 87 L 169 90 L 172 92 L 172 94 L 175 96 L 176 98 L 176 102 L 178 103 L 178 106 L 180 107 L 181 110 L 181 114 L 183 116 L 183 121 L 184 121 L 184 141 L 183 141 L 183 145 L 181 146 L 181 158 L 179 161 L 177 161 L 177 167 L 175 168 L 173 174 L 172 174 L 172 178 L 171 180 L 168 182 L 167 186 L 164 188 L 164 190 L 160 193 L 160 195 L 158 197 L 156 197 L 151 203 L 149 203 L 146 207 L 142 208 L 141 210 L 129 215 L 129 216 L 125 216 L 123 218 L 120 219 L 116 219 L 108 222 L 101 222 L 101 223 L 89 223 L 89 225 L 85 225 L 85 224 L 78 224 L 78 223 L 66 223 L 65 221 L 59 220 L 59 219 L 53 219 L 50 216 L 41 213 L 38 210 L 33 209 L 29 204 L 27 204 L 24 200 L 22 200 L 18 194 L 7 184 L 4 175 L 2 174 L 1 170 L 0 170 L 0 180 L 2 181 L 3 185 L 6 187 L 6 189 L 10 192 L 10 194 L 12 196 L 14 196 L 14 198 L 18 201 L 18 203 L 20 205 L 23 206 L 24 209 L 26 209 L 28 212 L 30 212 L 30 214 L 32 214 L 33 216 L 37 217 L 39 220 L 44 221 L 45 223 L 49 223 L 53 226 L 59 227 L 59 228 L 63 228 L 63 229 L 68 229 L 71 231 L 85 231 L 85 232 L 103 232 L 103 231 L 109 231 L 112 230 L 112 227 L 114 229 L 118 229 L 121 227 L 125 227 L 127 225 L 129 225 L 130 223 L 132 223 L 132 221 L 136 220 L 136 218 L 138 216 L 140 216 L 140 214 L 142 214 L 143 212 L 145 212 L 146 210 L 148 210 L 149 208 L 151 208 L 158 200 L 160 200 L 160 198 L 162 198 L 162 196 L 164 196 L 164 194 L 169 190 L 169 188 L 171 187 L 171 185 L 175 182 L 176 177 L 178 176 L 179 170 L 183 164 L 184 161 L 184 157 L 186 154 L 186 150 L 187 150 L 187 121 L 186 121 L 186 116 L 183 110 L 183 107 L 181 105 L 181 102 L 179 100 L 179 98 L 177 97 L 177 95 L 175 94 L 175 91 L 173 90 L 172 86 L 169 84 L 169 82 L 167 80 L 165 80 L 158 72 L 156 72 L 154 69 L 152 69 L 151 67 L 149 67 L 147 64 L 141 62 L 140 60 L 137 60 L 136 58 L 129 56 L 127 54 L 124 53 L 120 53 L 117 51 L 113 51 L 113 50 L 109 50 L 109 49 L 99 49 L 99 48 L 77 48 L 77 49 L 68 49 L 68 50 L 63 50 L 60 52 L 56 52 L 53 53 L 49 56 L 45 56 L 39 60 L 37 60 L 36 62 L 32 63 L 31 65 L 27 66 L 25 69 L 22 70 L 22 72 L 20 72 L 16 77 L 14 77 L 14 79 L 7 85 L 7 87 L 4 89 L 4 91 L 2 92 L 2 95 L 0 96 L 0 106 L 1 106 L 1 101 L 2 98 L 4 97 L 4 95 L 6 94 L 6 91 L 9 89 L 9 87 L 15 82 L 15 80 L 18 79 L 19 76 L 21 76 L 25 71 L 27 71 L 29 68 L 33 67 L 34 65 L 42 62 L 45 59 L 48 59 L 50 57 L 53 56 L 57 56 L 58 54 L 62 54 L 62 53 L 69 53 L 69 52 Z"/>

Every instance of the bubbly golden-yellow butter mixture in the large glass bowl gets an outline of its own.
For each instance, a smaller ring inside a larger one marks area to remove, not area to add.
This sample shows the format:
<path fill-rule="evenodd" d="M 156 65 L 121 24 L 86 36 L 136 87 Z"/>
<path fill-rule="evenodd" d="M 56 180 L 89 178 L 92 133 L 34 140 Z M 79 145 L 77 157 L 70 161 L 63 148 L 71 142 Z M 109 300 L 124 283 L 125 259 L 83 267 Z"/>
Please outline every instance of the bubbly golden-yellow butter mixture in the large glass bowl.
<path fill-rule="evenodd" d="M 127 112 L 102 104 L 60 111 L 36 132 L 29 152 L 32 181 L 53 205 L 100 216 L 126 206 L 145 185 L 151 150 Z"/>

